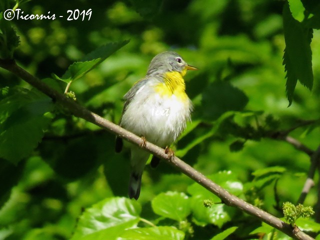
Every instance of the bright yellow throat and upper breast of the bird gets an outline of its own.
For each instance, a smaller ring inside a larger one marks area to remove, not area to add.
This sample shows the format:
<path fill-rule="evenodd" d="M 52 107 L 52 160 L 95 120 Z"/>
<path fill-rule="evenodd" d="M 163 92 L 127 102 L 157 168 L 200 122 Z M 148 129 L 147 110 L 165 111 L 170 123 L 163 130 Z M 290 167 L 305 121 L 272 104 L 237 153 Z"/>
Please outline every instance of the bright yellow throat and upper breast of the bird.
<path fill-rule="evenodd" d="M 186 73 L 186 69 L 182 72 L 169 71 L 163 76 L 164 82 L 159 83 L 155 87 L 155 91 L 161 96 L 171 96 L 175 95 L 181 101 L 187 99 L 185 93 L 185 83 L 183 76 Z"/>

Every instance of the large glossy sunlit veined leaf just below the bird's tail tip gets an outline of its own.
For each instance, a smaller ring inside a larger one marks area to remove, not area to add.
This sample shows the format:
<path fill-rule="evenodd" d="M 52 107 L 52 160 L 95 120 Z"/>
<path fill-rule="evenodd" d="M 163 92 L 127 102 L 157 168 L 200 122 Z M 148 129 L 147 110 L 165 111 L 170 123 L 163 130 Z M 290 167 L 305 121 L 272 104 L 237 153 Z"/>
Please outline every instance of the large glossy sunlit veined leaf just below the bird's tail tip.
<path fill-rule="evenodd" d="M 122 224 L 126 228 L 136 226 L 140 212 L 141 206 L 136 201 L 125 197 L 106 198 L 83 212 L 71 239 L 82 239 L 85 235 Z"/>

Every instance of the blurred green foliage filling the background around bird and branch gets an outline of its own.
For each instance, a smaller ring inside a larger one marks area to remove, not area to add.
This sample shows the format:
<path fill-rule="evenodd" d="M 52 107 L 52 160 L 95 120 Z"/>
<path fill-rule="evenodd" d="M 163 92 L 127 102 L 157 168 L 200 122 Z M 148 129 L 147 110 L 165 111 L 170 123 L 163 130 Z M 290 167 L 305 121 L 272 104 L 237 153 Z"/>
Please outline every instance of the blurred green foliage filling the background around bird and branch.
<path fill-rule="evenodd" d="M 3 2 L 1 10 L 15 5 Z M 320 142 L 320 6 L 312 2 L 31 0 L 19 8 L 64 17 L 0 18 L 0 29 L 14 26 L 20 45 L 13 57 L 27 71 L 60 92 L 72 80 L 76 100 L 113 122 L 119 120 L 122 96 L 144 76 L 151 58 L 177 51 L 199 70 L 185 77 L 194 112 L 173 146 L 176 155 L 233 194 L 282 217 L 282 203 L 298 199 L 310 159 L 270 136 L 310 120 L 290 135 L 311 149 Z M 76 8 L 91 9 L 90 19 L 67 21 L 67 10 Z M 305 8 L 311 15 L 305 16 Z M 84 74 L 85 69 L 90 71 Z M 124 198 L 129 153 L 114 153 L 112 134 L 73 117 L 3 69 L 0 87 L 0 239 L 274 234 L 237 209 L 205 208 L 203 200 L 219 199 L 164 162 L 156 169 L 146 166 L 137 202 Z M 305 205 L 316 202 L 312 188 Z M 320 230 L 312 219 L 297 224 L 314 236 Z M 131 228 L 136 225 L 140 228 Z"/>

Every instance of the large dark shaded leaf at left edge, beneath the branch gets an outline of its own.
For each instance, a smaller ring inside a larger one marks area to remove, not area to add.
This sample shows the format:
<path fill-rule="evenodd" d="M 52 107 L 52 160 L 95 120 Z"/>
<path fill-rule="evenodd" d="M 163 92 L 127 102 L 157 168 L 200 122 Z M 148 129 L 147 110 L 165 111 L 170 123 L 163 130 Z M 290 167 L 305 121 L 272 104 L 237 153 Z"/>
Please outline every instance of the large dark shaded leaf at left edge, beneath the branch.
<path fill-rule="evenodd" d="M 50 122 L 44 115 L 52 109 L 51 99 L 23 88 L 10 89 L 0 100 L 0 157 L 16 164 L 41 141 Z"/>

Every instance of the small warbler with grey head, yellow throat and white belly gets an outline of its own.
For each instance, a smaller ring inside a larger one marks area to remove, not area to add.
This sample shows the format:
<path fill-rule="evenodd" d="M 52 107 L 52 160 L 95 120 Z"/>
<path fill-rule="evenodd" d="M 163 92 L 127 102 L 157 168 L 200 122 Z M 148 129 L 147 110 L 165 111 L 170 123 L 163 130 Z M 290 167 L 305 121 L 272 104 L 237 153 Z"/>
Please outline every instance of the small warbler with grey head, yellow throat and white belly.
<path fill-rule="evenodd" d="M 138 199 L 141 176 L 149 153 L 141 149 L 145 140 L 160 147 L 166 153 L 172 153 L 168 146 L 185 129 L 190 120 L 191 100 L 185 93 L 183 76 L 187 69 L 197 68 L 188 65 L 182 57 L 173 51 L 165 51 L 153 57 L 146 76 L 131 87 L 124 95 L 124 107 L 119 125 L 141 136 L 139 146 L 129 144 L 131 151 L 131 173 L 128 195 Z M 115 151 L 122 149 L 122 139 L 116 137 Z M 159 159 L 154 157 L 151 166 L 155 167 Z"/>

